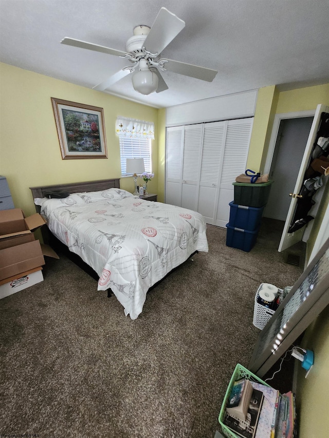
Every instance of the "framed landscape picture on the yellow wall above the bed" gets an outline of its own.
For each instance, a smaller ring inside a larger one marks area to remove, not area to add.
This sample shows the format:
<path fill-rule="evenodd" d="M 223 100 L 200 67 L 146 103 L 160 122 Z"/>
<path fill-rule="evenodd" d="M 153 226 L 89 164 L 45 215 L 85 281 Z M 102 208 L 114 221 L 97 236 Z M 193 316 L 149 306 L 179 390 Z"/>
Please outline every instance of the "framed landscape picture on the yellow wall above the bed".
<path fill-rule="evenodd" d="M 107 158 L 103 108 L 51 98 L 62 159 Z"/>

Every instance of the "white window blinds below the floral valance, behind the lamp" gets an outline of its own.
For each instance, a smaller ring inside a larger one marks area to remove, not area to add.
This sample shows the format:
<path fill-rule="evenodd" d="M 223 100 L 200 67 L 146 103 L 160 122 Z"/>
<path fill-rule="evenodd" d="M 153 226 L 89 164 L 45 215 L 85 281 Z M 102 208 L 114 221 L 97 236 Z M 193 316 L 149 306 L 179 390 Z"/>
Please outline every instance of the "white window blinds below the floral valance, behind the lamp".
<path fill-rule="evenodd" d="M 151 139 L 120 137 L 121 175 L 126 175 L 127 158 L 143 158 L 145 172 L 152 172 Z"/>

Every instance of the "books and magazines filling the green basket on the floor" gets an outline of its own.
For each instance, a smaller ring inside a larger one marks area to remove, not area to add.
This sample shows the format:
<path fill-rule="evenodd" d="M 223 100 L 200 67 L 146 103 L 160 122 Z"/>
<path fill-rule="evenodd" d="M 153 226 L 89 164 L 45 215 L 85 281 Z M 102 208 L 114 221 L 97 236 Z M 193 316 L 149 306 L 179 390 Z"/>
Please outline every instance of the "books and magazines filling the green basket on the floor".
<path fill-rule="evenodd" d="M 294 438 L 295 396 L 248 379 L 239 379 L 231 389 L 223 423 L 244 438 Z"/>

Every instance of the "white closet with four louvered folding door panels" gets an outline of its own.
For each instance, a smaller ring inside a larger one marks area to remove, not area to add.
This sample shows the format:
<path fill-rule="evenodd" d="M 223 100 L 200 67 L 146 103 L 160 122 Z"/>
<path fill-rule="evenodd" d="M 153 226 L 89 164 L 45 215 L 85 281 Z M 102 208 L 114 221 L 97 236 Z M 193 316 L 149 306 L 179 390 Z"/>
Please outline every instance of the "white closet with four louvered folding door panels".
<path fill-rule="evenodd" d="M 235 177 L 245 172 L 253 118 L 167 127 L 166 203 L 225 227 Z"/>

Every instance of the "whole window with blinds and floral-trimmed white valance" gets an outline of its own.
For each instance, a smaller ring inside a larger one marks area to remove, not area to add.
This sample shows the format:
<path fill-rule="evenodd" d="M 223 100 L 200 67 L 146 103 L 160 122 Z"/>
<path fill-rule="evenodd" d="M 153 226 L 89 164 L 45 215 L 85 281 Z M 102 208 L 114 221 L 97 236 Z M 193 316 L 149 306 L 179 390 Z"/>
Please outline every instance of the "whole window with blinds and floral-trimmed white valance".
<path fill-rule="evenodd" d="M 143 158 L 145 172 L 152 173 L 151 139 L 154 139 L 154 123 L 118 117 L 116 134 L 120 139 L 121 175 L 126 175 L 127 158 Z"/>

